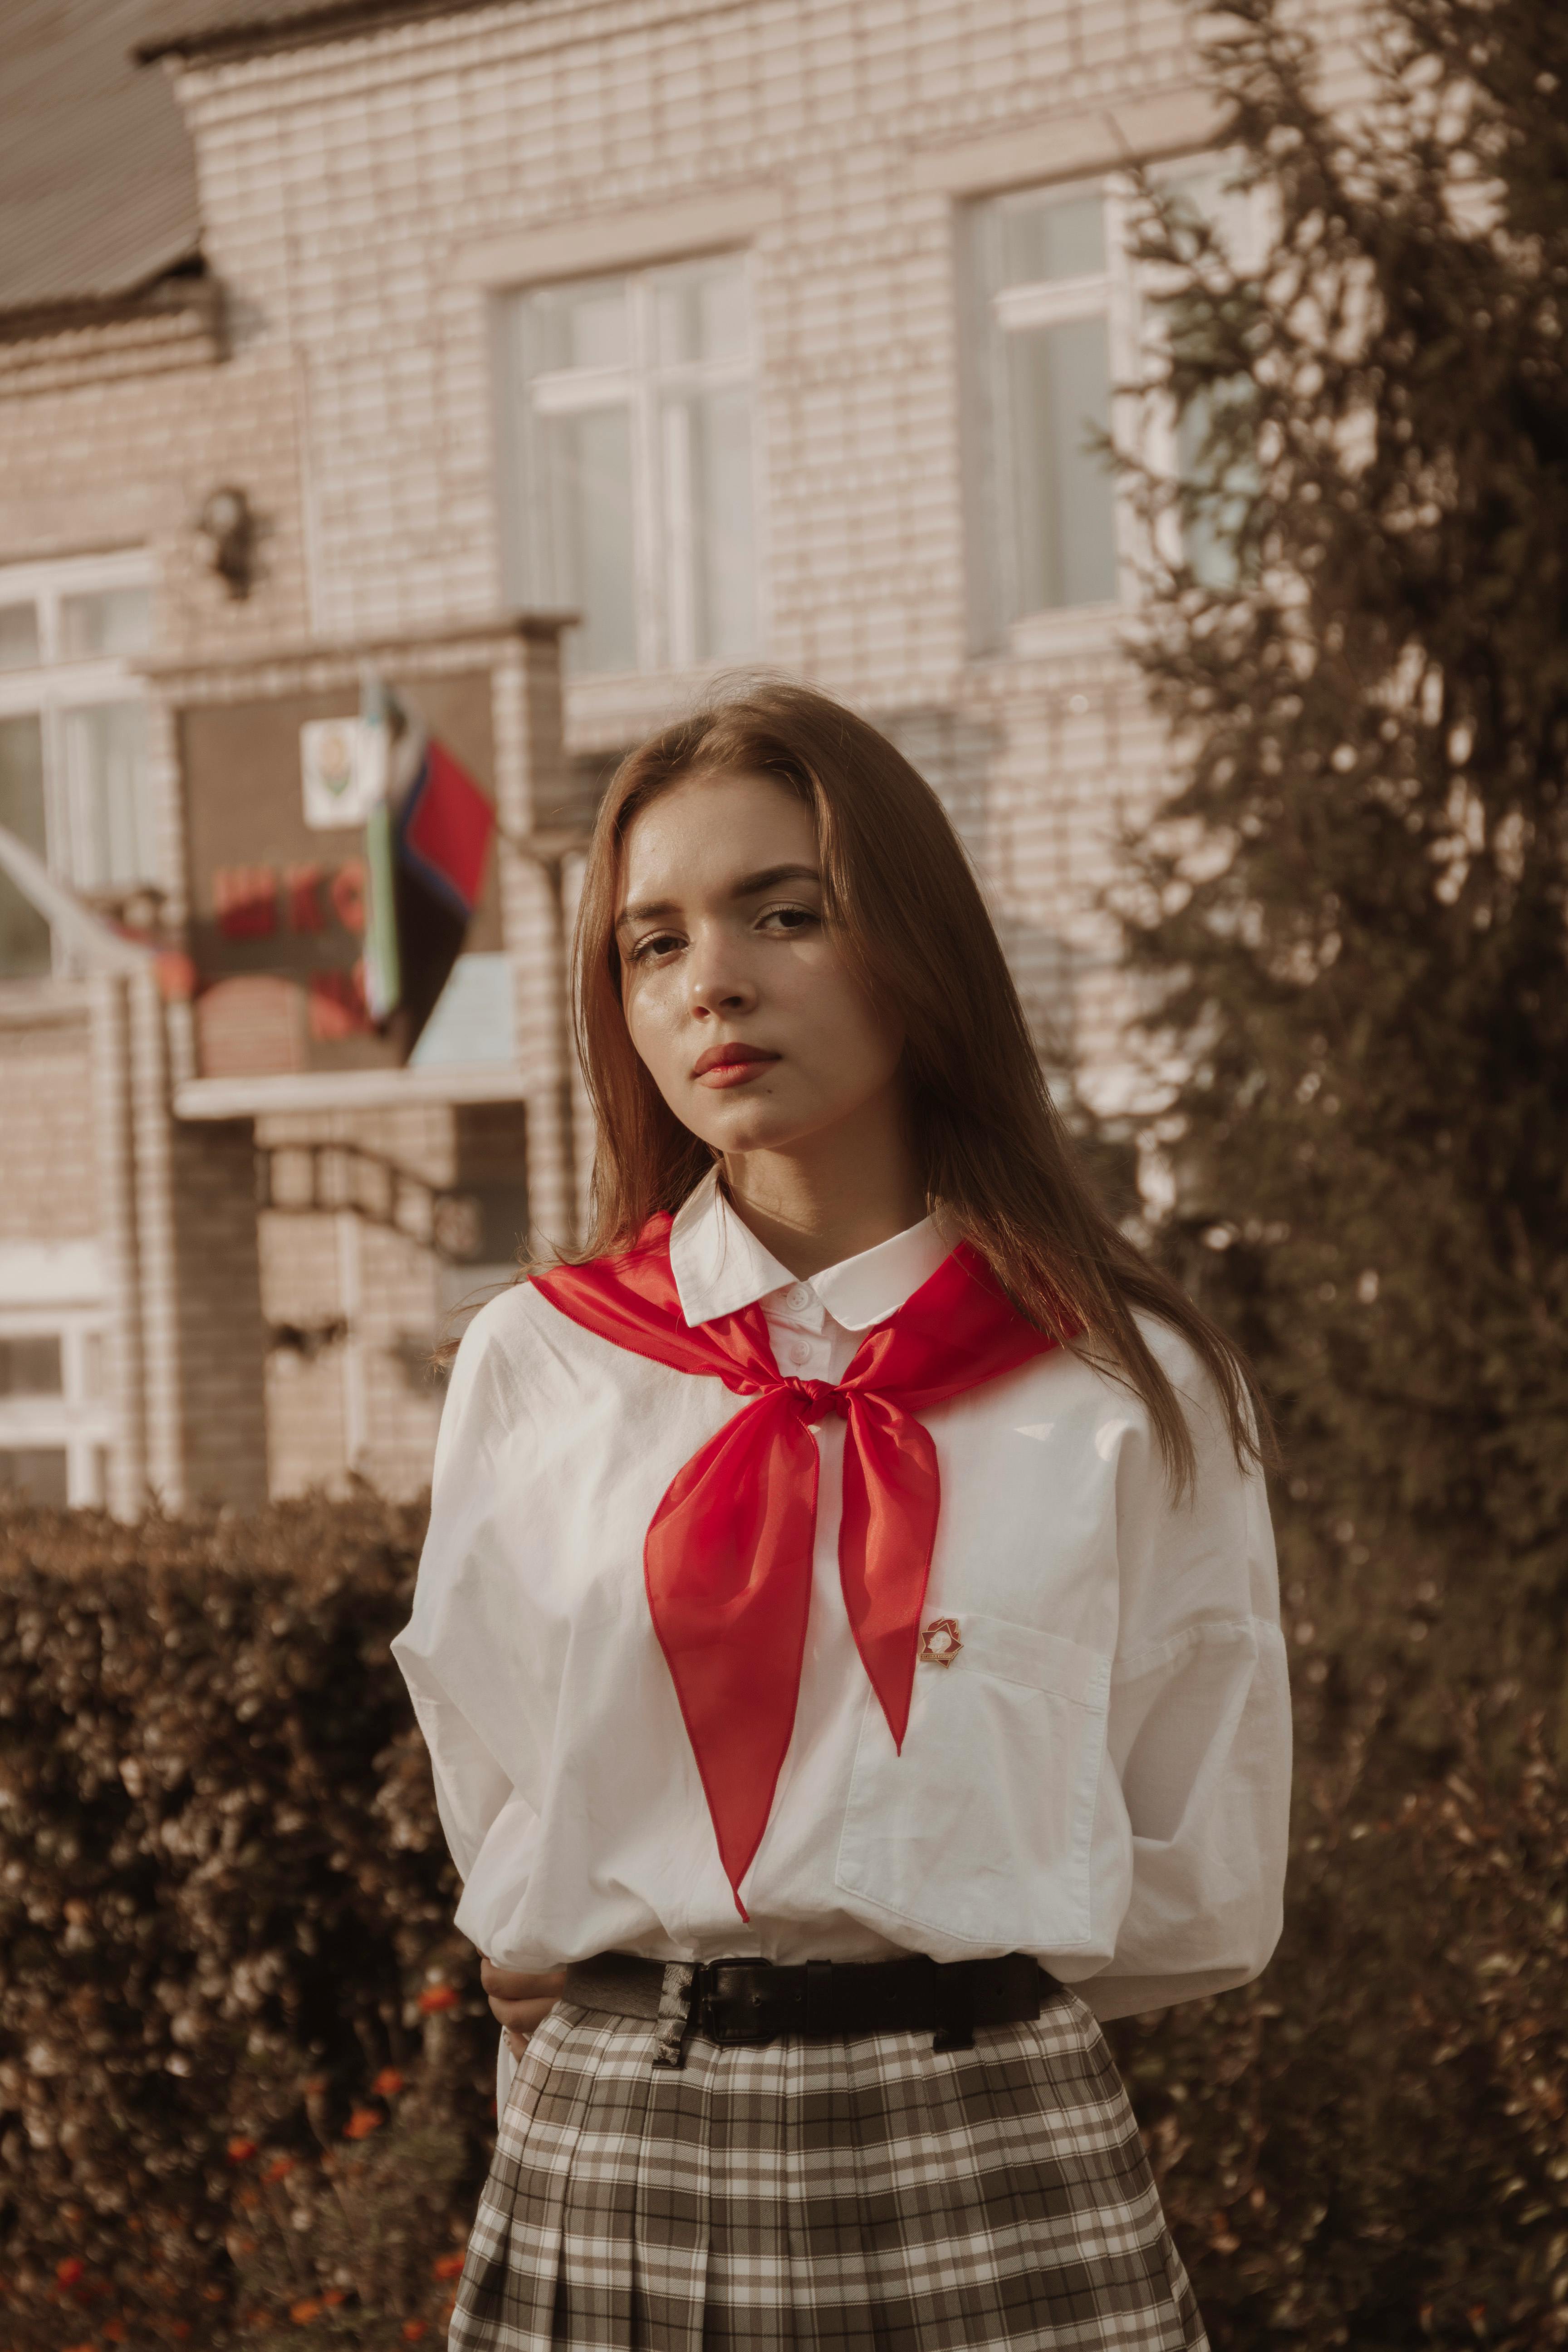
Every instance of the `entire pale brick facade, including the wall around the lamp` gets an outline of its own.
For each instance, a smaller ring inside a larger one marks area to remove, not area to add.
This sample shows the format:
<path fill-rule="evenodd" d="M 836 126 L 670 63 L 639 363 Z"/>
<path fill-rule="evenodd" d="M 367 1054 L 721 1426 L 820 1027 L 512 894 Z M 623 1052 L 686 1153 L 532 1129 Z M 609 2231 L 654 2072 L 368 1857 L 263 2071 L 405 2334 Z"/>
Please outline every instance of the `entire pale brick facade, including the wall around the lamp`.
<path fill-rule="evenodd" d="M 1095 896 L 1166 750 L 1114 633 L 1030 623 L 1004 652 L 971 652 L 954 212 L 1100 169 L 1128 143 L 1194 143 L 1187 21 L 1180 0 L 498 0 L 179 68 L 230 355 L 188 365 L 181 348 L 183 365 L 132 376 L 118 346 L 96 376 L 87 350 L 80 381 L 38 376 L 49 390 L 0 376 L 0 562 L 150 543 L 160 652 L 179 661 L 484 623 L 503 604 L 496 294 L 545 247 L 555 268 L 567 242 L 583 268 L 614 268 L 675 256 L 682 238 L 729 242 L 748 219 L 757 661 L 905 746 L 971 844 L 1041 1044 L 1110 1070 L 1126 993 Z M 1319 0 L 1312 21 L 1354 94 L 1354 0 Z M 226 480 L 263 522 L 244 602 L 195 536 Z M 578 680 L 567 748 L 618 750 L 698 687 Z M 520 821 L 531 750 L 505 684 L 498 720 Z M 179 903 L 176 851 L 172 837 Z M 534 896 L 531 873 L 508 875 L 515 915 Z M 548 1058 L 548 1037 L 531 1044 Z M 78 1230 L 92 1211 L 68 1197 L 56 1207 Z M 242 1249 L 228 1225 L 219 1240 Z M 158 1247 L 141 1235 L 143 1284 Z M 268 1319 L 336 1312 L 343 1279 L 336 1216 L 263 1218 Z M 428 1322 L 430 1254 L 364 1228 L 355 1279 L 357 1388 L 336 1350 L 268 1362 L 275 1489 L 331 1475 L 355 1416 L 371 1475 L 400 1491 L 423 1477 L 435 1397 L 400 1369 L 400 1334 Z M 153 1357 L 158 1301 L 150 1282 Z M 205 1345 L 200 1315 L 169 1319 L 165 1352 Z M 150 1416 L 153 1475 L 160 1428 L 169 1411 Z M 186 1456 L 197 1484 L 219 1475 L 212 1446 L 190 1439 Z"/>

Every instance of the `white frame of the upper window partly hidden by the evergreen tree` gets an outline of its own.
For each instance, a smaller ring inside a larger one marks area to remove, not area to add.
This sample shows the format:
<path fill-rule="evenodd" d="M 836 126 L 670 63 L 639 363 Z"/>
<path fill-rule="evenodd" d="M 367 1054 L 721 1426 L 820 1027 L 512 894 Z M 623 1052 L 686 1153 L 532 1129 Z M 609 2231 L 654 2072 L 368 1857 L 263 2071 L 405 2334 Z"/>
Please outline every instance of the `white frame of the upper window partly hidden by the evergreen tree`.
<path fill-rule="evenodd" d="M 1150 172 L 1154 186 L 1197 176 L 1227 176 L 1234 155 L 1199 151 L 1173 158 Z M 1072 202 L 1098 195 L 1105 205 L 1105 268 L 1093 275 L 990 289 L 985 282 L 987 223 L 1004 209 L 1032 209 L 1044 202 Z M 1232 205 L 1239 200 L 1232 198 Z M 966 346 L 971 362 L 964 383 L 966 437 L 976 463 L 966 468 L 966 536 L 971 560 L 971 656 L 1072 654 L 1103 647 L 1131 619 L 1138 604 L 1138 572 L 1150 548 L 1126 492 L 1112 487 L 1114 597 L 1093 604 L 1056 604 L 1041 612 L 1004 619 L 1011 602 L 1013 539 L 1009 522 L 1009 416 L 1001 367 L 1001 336 L 1013 329 L 1053 327 L 1103 318 L 1110 360 L 1110 433 L 1124 449 L 1138 449 L 1154 473 L 1173 477 L 1178 435 L 1171 405 L 1143 402 L 1135 393 L 1114 390 L 1135 383 L 1159 358 L 1161 322 L 1150 303 L 1154 278 L 1138 268 L 1126 240 L 1138 212 L 1138 191 L 1128 172 L 1091 172 L 1077 179 L 1034 181 L 976 198 L 966 221 Z M 1255 256 L 1260 202 L 1237 209 L 1234 226 L 1244 240 L 1244 261 Z M 1173 524 L 1171 524 L 1173 527 Z M 1166 550 L 1171 553 L 1171 550 Z"/>

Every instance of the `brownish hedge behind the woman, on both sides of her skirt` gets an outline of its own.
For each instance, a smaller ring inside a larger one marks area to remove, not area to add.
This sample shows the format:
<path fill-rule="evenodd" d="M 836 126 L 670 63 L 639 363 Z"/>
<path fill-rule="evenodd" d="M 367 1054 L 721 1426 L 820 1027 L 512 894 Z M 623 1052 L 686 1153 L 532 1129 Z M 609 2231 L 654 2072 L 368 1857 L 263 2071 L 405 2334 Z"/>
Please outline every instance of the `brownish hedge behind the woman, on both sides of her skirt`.
<path fill-rule="evenodd" d="M 440 2331 L 496 2034 L 388 1656 L 418 1536 L 0 1515 L 0 2352 Z M 1507 1684 L 1401 1785 L 1399 1675 L 1293 1642 L 1281 1950 L 1107 2027 L 1215 2352 L 1568 2345 L 1568 1795 Z"/>

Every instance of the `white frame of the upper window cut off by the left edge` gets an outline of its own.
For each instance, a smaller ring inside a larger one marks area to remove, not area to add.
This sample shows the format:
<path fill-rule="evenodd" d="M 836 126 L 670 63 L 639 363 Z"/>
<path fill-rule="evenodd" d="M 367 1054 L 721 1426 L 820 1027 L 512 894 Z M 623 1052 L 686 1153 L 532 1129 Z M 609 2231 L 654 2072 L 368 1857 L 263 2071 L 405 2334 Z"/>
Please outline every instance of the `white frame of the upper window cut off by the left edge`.
<path fill-rule="evenodd" d="M 82 868 L 82 779 L 73 774 L 66 720 L 71 710 L 94 703 L 146 701 L 146 687 L 125 654 L 96 661 L 61 659 L 61 604 L 73 595 L 106 588 L 155 588 L 153 557 L 146 548 L 120 548 L 110 555 L 68 555 L 42 564 L 0 567 L 0 604 L 31 602 L 38 612 L 38 661 L 31 668 L 0 670 L 0 717 L 38 717 L 45 771 L 45 842 L 47 866 L 73 889 Z M 160 875 L 141 877 L 158 887 Z M 54 950 L 61 969 L 61 948 Z"/>

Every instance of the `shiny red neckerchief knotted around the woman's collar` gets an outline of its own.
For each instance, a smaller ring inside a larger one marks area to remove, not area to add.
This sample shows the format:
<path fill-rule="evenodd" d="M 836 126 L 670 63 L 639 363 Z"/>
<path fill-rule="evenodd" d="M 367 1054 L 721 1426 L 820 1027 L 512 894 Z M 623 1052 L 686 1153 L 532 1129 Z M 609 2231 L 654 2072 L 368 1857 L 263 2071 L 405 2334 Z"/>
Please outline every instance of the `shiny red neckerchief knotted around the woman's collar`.
<path fill-rule="evenodd" d="M 903 1748 L 940 1503 L 936 1446 L 914 1414 L 1056 1341 L 1009 1305 L 969 1242 L 865 1334 L 837 1385 L 778 1371 L 759 1305 L 689 1327 L 668 1216 L 649 1218 L 625 1256 L 555 1265 L 534 1284 L 585 1331 L 755 1399 L 675 1472 L 642 1552 L 654 1632 L 745 1919 L 741 1879 L 773 1804 L 806 1646 L 818 1472 L 811 1425 L 825 1414 L 846 1421 L 844 1606 Z"/>

